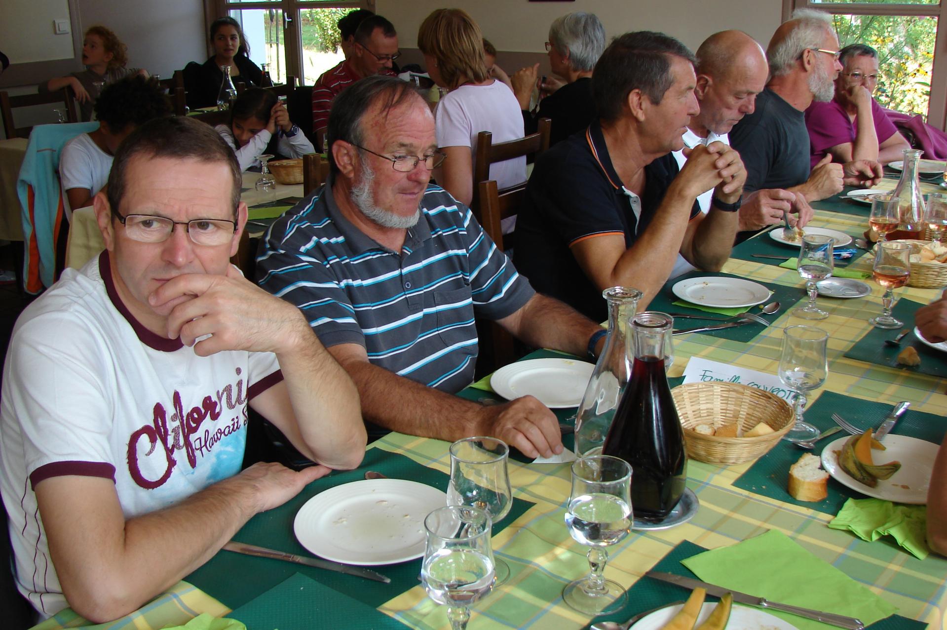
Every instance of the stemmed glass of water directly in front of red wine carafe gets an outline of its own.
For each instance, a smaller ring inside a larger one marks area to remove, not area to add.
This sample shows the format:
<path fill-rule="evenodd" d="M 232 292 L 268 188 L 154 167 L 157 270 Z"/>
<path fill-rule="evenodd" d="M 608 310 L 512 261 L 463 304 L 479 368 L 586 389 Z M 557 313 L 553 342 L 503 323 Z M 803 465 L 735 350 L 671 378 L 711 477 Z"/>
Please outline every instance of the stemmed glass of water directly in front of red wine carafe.
<path fill-rule="evenodd" d="M 625 604 L 625 588 L 603 573 L 604 548 L 621 542 L 632 527 L 632 467 L 624 459 L 593 455 L 572 464 L 572 495 L 565 526 L 576 542 L 589 546 L 589 574 L 563 588 L 563 601 L 586 615 L 615 611 Z"/>

